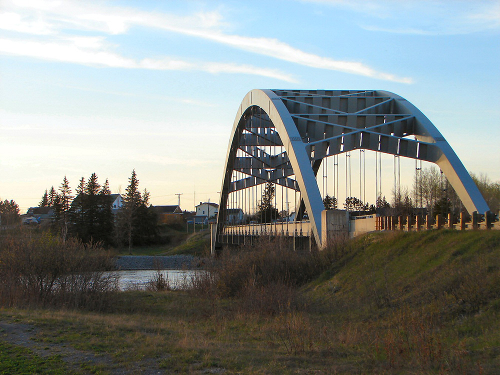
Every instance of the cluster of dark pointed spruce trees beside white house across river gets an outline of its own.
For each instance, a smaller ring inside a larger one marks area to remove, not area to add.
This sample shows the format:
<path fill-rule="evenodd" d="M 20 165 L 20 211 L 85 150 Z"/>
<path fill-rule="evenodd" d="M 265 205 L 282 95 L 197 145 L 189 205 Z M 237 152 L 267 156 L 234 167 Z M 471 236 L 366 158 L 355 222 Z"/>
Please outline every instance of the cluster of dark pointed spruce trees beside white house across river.
<path fill-rule="evenodd" d="M 53 186 L 43 194 L 38 206 L 54 210 L 51 227 L 65 240 L 68 236 L 83 242 L 101 242 L 104 246 L 141 245 L 157 238 L 157 215 L 150 209 L 149 192 L 139 191 L 139 180 L 132 170 L 128 186 L 120 202 L 111 194 L 109 183 L 98 182 L 92 173 L 87 180 L 81 177 L 73 195 L 64 176 L 58 189 Z"/>

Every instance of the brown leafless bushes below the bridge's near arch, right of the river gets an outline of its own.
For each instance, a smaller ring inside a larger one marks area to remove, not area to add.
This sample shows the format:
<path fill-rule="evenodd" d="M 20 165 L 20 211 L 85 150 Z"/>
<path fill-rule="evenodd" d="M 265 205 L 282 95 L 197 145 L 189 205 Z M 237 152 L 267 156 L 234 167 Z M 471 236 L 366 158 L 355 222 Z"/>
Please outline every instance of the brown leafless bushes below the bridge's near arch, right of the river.
<path fill-rule="evenodd" d="M 274 315 L 304 305 L 298 287 L 316 278 L 346 251 L 336 241 L 323 251 L 295 250 L 281 238 L 226 248 L 192 289 L 208 298 L 237 297 L 239 310 Z"/>

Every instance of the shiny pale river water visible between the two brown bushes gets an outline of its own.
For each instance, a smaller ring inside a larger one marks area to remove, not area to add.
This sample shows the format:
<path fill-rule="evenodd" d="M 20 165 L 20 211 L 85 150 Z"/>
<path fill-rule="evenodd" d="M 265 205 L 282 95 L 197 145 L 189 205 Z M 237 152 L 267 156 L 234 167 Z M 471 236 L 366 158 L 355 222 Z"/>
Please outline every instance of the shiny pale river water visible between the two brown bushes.
<path fill-rule="evenodd" d="M 116 274 L 118 278 L 118 286 L 121 290 L 126 289 L 145 289 L 146 283 L 156 276 L 156 269 L 130 269 L 117 270 L 107 272 L 108 274 Z M 179 289 L 186 286 L 193 276 L 200 272 L 205 272 L 198 269 L 161 269 L 165 280 L 172 289 Z"/>

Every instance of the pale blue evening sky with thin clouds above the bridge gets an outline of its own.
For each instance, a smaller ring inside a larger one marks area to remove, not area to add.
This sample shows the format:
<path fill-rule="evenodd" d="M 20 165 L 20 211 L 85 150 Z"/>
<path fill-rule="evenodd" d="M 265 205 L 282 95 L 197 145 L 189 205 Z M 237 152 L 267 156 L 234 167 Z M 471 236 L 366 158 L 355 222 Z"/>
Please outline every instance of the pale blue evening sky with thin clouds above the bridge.
<path fill-rule="evenodd" d="M 152 204 L 218 201 L 253 88 L 395 92 L 500 180 L 500 0 L 0 0 L 0 198 L 135 169 Z"/>

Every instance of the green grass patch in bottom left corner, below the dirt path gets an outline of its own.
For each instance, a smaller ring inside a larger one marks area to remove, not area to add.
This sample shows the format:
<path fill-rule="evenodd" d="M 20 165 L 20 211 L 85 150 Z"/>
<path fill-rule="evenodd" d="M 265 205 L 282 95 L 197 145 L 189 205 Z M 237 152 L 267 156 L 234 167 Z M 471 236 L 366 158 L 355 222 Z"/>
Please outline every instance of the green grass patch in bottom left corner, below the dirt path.
<path fill-rule="evenodd" d="M 43 357 L 26 347 L 0 340 L 0 374 L 33 373 L 64 375 L 68 372 L 58 355 Z"/>

